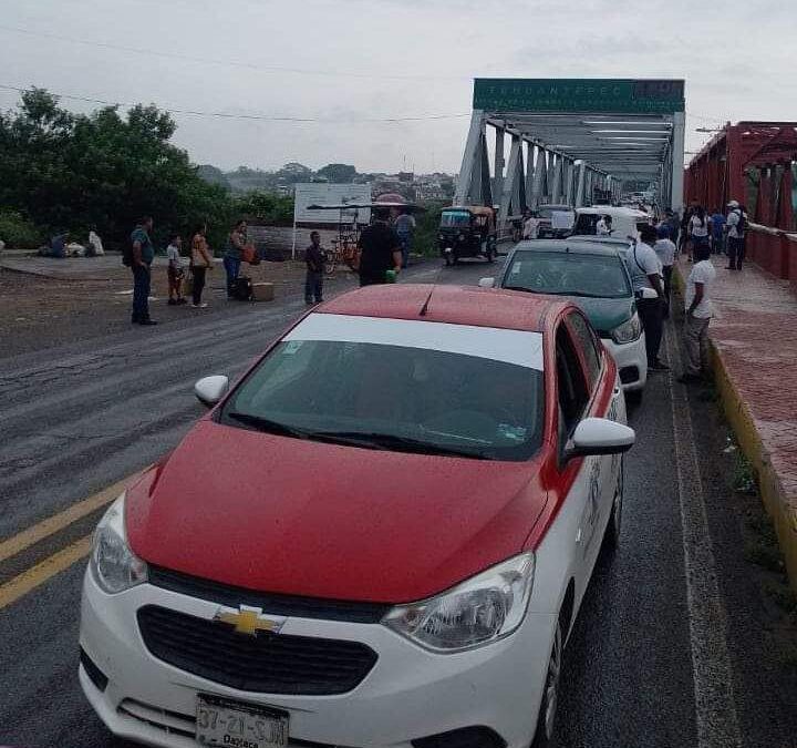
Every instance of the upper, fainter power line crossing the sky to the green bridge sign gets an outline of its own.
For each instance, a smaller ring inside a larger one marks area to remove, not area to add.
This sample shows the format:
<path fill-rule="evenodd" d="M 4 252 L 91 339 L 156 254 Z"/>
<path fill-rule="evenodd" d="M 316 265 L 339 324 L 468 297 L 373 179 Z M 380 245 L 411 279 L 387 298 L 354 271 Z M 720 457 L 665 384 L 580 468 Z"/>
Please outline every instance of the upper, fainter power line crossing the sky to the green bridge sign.
<path fill-rule="evenodd" d="M 220 65 L 225 68 L 239 68 L 246 70 L 255 70 L 261 73 L 270 74 L 290 74 L 290 75 L 314 75 L 321 78 L 353 78 L 353 79 L 384 79 L 394 81 L 428 81 L 431 79 L 441 81 L 467 81 L 470 82 L 470 78 L 463 78 L 460 75 L 410 75 L 410 74 L 396 74 L 396 73 L 361 73 L 354 71 L 334 71 L 334 70 L 312 70 L 306 68 L 287 68 L 282 65 L 262 65 L 253 62 L 246 62 L 242 60 L 218 60 L 214 58 L 195 58 L 188 54 L 179 54 L 177 52 L 168 52 L 164 50 L 152 50 L 143 49 L 138 47 L 127 47 L 124 44 L 110 44 L 107 42 L 100 42 L 90 39 L 77 39 L 75 37 L 64 37 L 48 31 L 31 31 L 30 29 L 20 29 L 13 25 L 0 24 L 0 31 L 7 31 L 9 33 L 19 33 L 27 37 L 39 37 L 41 39 L 52 39 L 54 41 L 69 42 L 71 44 L 84 44 L 86 47 L 96 47 L 99 49 L 113 50 L 115 52 L 126 52 L 128 54 L 144 54 L 146 57 L 158 57 L 167 60 L 182 60 L 184 62 L 194 62 L 204 65 Z"/>

